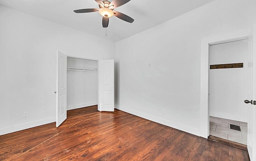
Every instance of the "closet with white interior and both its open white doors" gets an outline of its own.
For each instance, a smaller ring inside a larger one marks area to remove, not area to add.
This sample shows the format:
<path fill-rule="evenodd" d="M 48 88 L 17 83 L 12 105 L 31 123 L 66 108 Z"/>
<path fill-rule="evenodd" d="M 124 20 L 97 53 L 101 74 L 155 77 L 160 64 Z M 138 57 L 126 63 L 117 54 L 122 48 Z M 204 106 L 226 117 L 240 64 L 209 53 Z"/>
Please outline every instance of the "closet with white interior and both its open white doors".
<path fill-rule="evenodd" d="M 75 58 L 57 51 L 56 127 L 67 110 L 97 105 L 114 111 L 114 60 Z"/>

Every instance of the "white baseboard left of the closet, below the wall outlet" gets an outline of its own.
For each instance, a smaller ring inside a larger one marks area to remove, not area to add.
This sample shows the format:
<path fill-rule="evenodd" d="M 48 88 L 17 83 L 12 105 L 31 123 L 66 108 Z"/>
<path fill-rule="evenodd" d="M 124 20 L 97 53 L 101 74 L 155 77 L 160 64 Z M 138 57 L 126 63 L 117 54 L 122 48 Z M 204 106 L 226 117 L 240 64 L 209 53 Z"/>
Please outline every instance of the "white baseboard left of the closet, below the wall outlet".
<path fill-rule="evenodd" d="M 11 126 L 11 127 L 6 127 L 4 129 L 0 129 L 0 135 L 5 135 L 8 133 L 13 133 L 16 131 L 21 131 L 24 129 L 29 129 L 32 127 L 41 126 L 41 125 L 45 125 L 45 124 L 53 123 L 53 122 L 56 122 L 56 117 L 51 117 L 48 119 L 38 120 L 38 121 L 30 122 L 30 123 L 24 123 L 24 124 L 20 124 L 20 125 Z"/>

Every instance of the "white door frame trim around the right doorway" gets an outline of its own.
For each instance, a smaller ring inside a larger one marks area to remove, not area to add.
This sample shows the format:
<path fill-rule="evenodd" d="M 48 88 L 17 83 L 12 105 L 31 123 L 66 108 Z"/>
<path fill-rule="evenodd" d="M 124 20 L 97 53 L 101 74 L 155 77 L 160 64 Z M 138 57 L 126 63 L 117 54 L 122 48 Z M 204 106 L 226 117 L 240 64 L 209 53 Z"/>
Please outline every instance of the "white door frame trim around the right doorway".
<path fill-rule="evenodd" d="M 209 120 L 209 50 L 210 45 L 221 44 L 249 38 L 250 30 L 240 30 L 227 34 L 201 39 L 200 67 L 200 136 L 208 138 L 210 132 Z"/>

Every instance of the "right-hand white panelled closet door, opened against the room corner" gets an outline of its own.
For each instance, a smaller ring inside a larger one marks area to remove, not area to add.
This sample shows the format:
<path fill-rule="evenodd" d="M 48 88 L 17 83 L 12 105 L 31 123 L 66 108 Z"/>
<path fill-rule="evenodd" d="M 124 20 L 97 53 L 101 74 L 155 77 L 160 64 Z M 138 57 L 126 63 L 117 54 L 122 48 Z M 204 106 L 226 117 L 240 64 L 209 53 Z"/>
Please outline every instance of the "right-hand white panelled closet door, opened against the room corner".
<path fill-rule="evenodd" d="M 98 111 L 114 111 L 114 60 L 98 61 Z"/>

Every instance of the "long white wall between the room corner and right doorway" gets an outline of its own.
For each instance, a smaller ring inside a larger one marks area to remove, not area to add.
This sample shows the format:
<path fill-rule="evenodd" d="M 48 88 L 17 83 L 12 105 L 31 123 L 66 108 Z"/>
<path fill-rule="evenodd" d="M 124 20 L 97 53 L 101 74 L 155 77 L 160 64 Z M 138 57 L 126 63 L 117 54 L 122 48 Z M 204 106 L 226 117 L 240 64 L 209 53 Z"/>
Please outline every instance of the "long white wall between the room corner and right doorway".
<path fill-rule="evenodd" d="M 255 7 L 216 0 L 117 42 L 116 107 L 200 135 L 201 38 L 249 30 Z"/>

